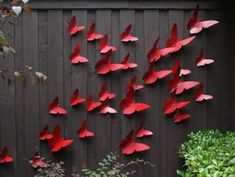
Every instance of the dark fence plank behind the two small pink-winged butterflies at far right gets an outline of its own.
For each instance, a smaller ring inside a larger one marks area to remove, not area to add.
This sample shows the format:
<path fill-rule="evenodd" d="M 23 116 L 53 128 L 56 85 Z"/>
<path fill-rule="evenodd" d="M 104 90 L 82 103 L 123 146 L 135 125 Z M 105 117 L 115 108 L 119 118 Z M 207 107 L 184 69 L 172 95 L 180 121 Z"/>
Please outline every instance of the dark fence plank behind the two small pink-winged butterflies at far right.
<path fill-rule="evenodd" d="M 186 30 L 186 24 L 191 17 L 191 11 L 185 11 L 184 17 L 184 38 L 189 36 L 189 31 Z M 205 19 L 205 13 L 203 11 L 199 12 L 200 18 Z M 190 69 L 191 74 L 184 77 L 185 80 L 199 81 L 204 84 L 204 88 L 207 88 L 207 67 L 198 68 L 196 66 L 196 57 L 198 56 L 201 48 L 204 48 L 206 56 L 206 35 L 204 32 L 197 35 L 196 39 L 187 47 L 184 48 L 184 54 L 182 58 L 182 65 L 185 69 Z M 210 67 L 210 66 L 209 66 Z M 208 73 L 210 74 L 210 73 Z M 195 89 L 193 89 L 195 91 Z M 192 98 L 191 105 L 187 108 L 187 111 L 191 114 L 191 118 L 187 121 L 187 127 L 189 127 L 185 132 L 197 131 L 206 129 L 207 126 L 207 104 L 210 102 L 197 103 L 194 101 L 194 92 L 190 92 L 188 98 Z"/>

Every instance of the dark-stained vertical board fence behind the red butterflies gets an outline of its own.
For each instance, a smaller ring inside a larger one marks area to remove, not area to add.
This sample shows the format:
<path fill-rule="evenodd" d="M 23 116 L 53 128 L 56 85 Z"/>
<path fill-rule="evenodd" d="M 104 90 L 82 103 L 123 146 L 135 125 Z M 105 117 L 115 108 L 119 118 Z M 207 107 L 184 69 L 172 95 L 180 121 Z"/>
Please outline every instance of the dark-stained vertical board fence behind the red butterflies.
<path fill-rule="evenodd" d="M 79 172 L 83 167 L 94 168 L 105 154 L 118 150 L 120 140 L 144 121 L 145 127 L 154 132 L 154 136 L 143 142 L 151 150 L 140 154 L 157 164 L 156 168 L 137 169 L 137 176 L 174 177 L 176 169 L 182 165 L 178 157 L 179 145 L 191 131 L 204 129 L 235 130 L 235 52 L 234 52 L 234 12 L 225 10 L 223 4 L 211 1 L 200 2 L 202 19 L 217 19 L 220 24 L 200 33 L 197 39 L 176 55 L 167 56 L 156 64 L 158 69 L 170 68 L 174 58 L 180 57 L 184 68 L 192 70 L 187 79 L 199 80 L 205 84 L 206 92 L 214 96 L 208 103 L 193 102 L 186 110 L 192 114 L 190 120 L 176 125 L 166 118 L 162 104 L 168 93 L 164 79 L 153 86 L 146 86 L 137 94 L 137 100 L 151 104 L 151 109 L 128 118 L 121 114 L 114 116 L 87 113 L 84 106 L 70 107 L 69 99 L 75 88 L 81 95 L 91 93 L 98 98 L 103 82 L 117 96 L 112 106 L 119 110 L 119 102 L 125 96 L 125 85 L 133 75 L 141 83 L 143 73 L 148 67 L 145 58 L 153 41 L 160 35 L 160 45 L 168 39 L 172 24 L 177 22 L 181 38 L 189 36 L 186 22 L 193 1 L 34 1 L 31 15 L 23 15 L 15 20 L 15 27 L 5 30 L 13 37 L 17 54 L 1 59 L 0 68 L 22 69 L 30 65 L 34 70 L 48 76 L 47 84 L 40 87 L 28 85 L 26 88 L 15 81 L 10 87 L 1 80 L 0 85 L 0 148 L 8 146 L 15 162 L 0 166 L 0 177 L 32 177 L 34 170 L 27 160 L 31 158 L 35 147 L 41 149 L 47 159 L 61 160 L 66 163 L 66 174 Z M 108 34 L 111 44 L 117 47 L 112 58 L 115 62 L 129 52 L 131 59 L 139 67 L 132 71 L 116 72 L 108 76 L 95 73 L 95 62 L 101 55 L 97 50 L 98 42 L 87 42 L 85 32 L 74 37 L 67 34 L 66 27 L 72 15 L 86 28 L 96 22 L 97 31 Z M 233 18 L 232 18 L 233 17 Z M 132 44 L 120 42 L 120 32 L 127 24 L 133 24 L 133 33 L 139 41 Z M 89 63 L 72 65 L 69 54 L 74 46 L 81 45 L 81 54 L 88 57 Z M 195 57 L 201 47 L 207 57 L 215 59 L 215 64 L 196 68 Z M 48 114 L 48 104 L 55 97 L 68 110 L 64 117 Z M 192 92 L 183 97 L 192 98 Z M 81 141 L 76 130 L 83 120 L 87 120 L 89 129 L 96 133 L 95 138 Z M 58 154 L 51 154 L 45 143 L 40 143 L 39 130 L 49 124 L 62 126 L 63 135 L 75 139 L 75 143 Z M 124 157 L 124 160 L 137 156 Z"/>

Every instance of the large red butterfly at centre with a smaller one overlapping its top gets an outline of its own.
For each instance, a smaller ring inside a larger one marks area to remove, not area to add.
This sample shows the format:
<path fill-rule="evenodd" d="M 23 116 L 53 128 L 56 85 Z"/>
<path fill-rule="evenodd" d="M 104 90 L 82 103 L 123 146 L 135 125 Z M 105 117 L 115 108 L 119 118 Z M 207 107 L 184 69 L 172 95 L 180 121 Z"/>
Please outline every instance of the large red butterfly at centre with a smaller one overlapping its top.
<path fill-rule="evenodd" d="M 120 108 L 122 113 L 125 115 L 131 115 L 134 112 L 140 112 L 150 107 L 149 104 L 145 103 L 136 103 L 134 99 L 135 91 L 133 88 L 130 88 L 126 94 L 126 98 L 122 99 L 120 103 Z"/>

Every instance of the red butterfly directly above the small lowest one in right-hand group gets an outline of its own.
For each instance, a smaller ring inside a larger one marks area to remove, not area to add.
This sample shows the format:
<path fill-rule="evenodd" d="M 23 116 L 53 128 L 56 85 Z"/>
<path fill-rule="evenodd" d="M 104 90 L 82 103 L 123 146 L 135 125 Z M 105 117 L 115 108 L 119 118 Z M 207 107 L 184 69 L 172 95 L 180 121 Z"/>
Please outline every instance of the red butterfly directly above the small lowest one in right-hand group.
<path fill-rule="evenodd" d="M 184 108 L 185 106 L 187 106 L 190 103 L 191 103 L 190 101 L 176 102 L 175 101 L 175 91 L 174 91 L 173 93 L 171 93 L 170 97 L 163 105 L 164 114 L 171 114 L 171 113 L 175 112 L 176 110 Z"/>

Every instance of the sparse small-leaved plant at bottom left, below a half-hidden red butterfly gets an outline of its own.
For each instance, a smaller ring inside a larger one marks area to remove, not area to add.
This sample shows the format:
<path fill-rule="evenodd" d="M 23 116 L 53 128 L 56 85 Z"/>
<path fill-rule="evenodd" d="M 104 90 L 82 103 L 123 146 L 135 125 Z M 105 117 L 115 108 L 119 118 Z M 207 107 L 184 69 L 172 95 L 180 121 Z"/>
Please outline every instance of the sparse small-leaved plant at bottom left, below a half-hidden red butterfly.
<path fill-rule="evenodd" d="M 34 177 L 65 177 L 64 162 L 46 162 L 46 168 L 38 168 Z"/>

